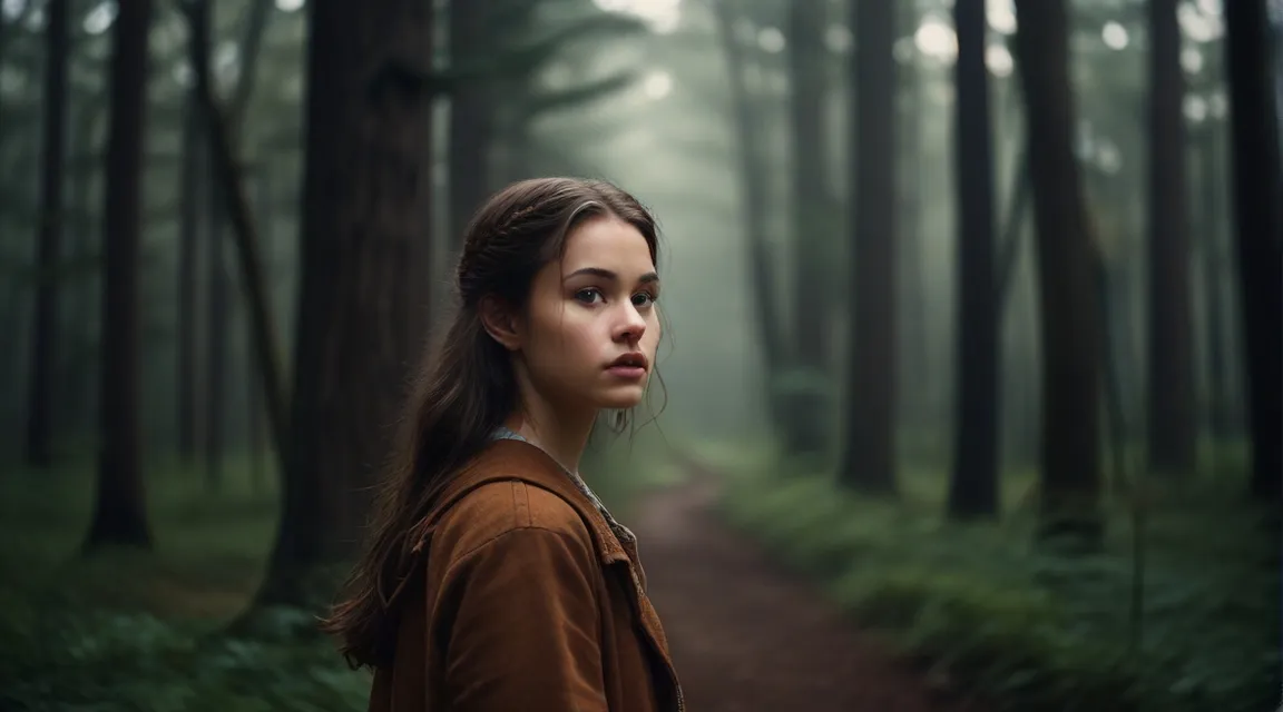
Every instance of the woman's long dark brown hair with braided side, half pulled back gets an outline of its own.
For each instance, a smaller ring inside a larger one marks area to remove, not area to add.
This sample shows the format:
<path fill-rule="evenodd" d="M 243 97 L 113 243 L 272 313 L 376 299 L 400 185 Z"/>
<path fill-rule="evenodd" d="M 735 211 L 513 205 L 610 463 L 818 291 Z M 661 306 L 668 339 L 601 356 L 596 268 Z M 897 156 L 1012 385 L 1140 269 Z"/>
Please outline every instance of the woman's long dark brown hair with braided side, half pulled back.
<path fill-rule="evenodd" d="M 380 483 L 366 549 L 343 599 L 322 621 L 352 667 L 387 666 L 396 611 L 389 594 L 404 578 L 417 524 L 449 478 L 518 406 L 508 352 L 485 332 L 482 297 L 522 309 L 535 273 L 558 259 L 582 220 L 613 215 L 635 227 L 658 264 L 654 219 L 618 187 L 536 178 L 495 193 L 468 224 L 454 274 L 455 312 L 440 346 L 425 352 Z"/>

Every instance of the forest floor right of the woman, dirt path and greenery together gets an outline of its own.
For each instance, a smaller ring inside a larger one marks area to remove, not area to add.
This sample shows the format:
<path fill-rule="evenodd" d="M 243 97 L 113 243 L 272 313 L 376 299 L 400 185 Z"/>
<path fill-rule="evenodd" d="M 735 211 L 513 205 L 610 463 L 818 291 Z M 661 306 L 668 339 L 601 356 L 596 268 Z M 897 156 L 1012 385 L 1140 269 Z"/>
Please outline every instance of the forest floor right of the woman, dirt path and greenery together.
<path fill-rule="evenodd" d="M 955 522 L 938 469 L 867 497 L 763 447 L 688 446 L 627 511 L 692 709 L 1277 707 L 1278 517 L 1241 470 L 1165 490 L 1138 579 L 1124 502 L 1064 556 L 1020 473 L 1001 520 Z"/>

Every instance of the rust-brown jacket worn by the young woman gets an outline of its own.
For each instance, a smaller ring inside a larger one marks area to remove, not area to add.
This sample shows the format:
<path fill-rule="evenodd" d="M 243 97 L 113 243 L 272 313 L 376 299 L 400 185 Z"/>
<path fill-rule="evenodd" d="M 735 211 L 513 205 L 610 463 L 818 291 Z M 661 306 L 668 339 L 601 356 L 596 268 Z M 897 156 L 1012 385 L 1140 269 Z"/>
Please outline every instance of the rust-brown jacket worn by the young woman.
<path fill-rule="evenodd" d="M 371 712 L 684 709 L 636 547 L 552 457 L 497 441 L 438 502 Z"/>

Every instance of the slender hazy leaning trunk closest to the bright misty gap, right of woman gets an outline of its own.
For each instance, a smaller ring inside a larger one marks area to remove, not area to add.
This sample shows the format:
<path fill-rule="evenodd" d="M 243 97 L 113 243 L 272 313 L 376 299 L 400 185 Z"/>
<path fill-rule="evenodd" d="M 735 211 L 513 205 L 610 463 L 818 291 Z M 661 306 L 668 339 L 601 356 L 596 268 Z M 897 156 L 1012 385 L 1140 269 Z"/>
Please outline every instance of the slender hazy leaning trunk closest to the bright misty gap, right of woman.
<path fill-rule="evenodd" d="M 726 61 L 729 113 L 734 119 L 735 175 L 739 179 L 742 220 L 748 242 L 748 264 L 752 265 L 753 315 L 757 324 L 757 343 L 762 353 L 762 382 L 766 385 L 765 403 L 769 421 L 775 432 L 785 424 L 777 401 L 777 379 L 784 366 L 784 342 L 780 336 L 780 315 L 772 278 L 770 239 L 766 234 L 767 186 L 762 165 L 761 113 L 753 105 L 753 96 L 745 79 L 744 50 L 735 36 L 735 12 L 729 0 L 716 0 L 713 13 L 717 20 L 717 40 Z"/>

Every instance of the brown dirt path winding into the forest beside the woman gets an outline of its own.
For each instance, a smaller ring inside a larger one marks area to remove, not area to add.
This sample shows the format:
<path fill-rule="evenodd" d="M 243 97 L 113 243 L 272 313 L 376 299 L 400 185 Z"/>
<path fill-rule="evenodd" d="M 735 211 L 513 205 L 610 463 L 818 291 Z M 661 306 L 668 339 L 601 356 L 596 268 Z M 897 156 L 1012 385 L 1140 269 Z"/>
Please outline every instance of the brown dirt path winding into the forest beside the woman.
<path fill-rule="evenodd" d="M 718 522 L 716 489 L 701 478 L 654 493 L 630 521 L 690 712 L 976 712 Z"/>

